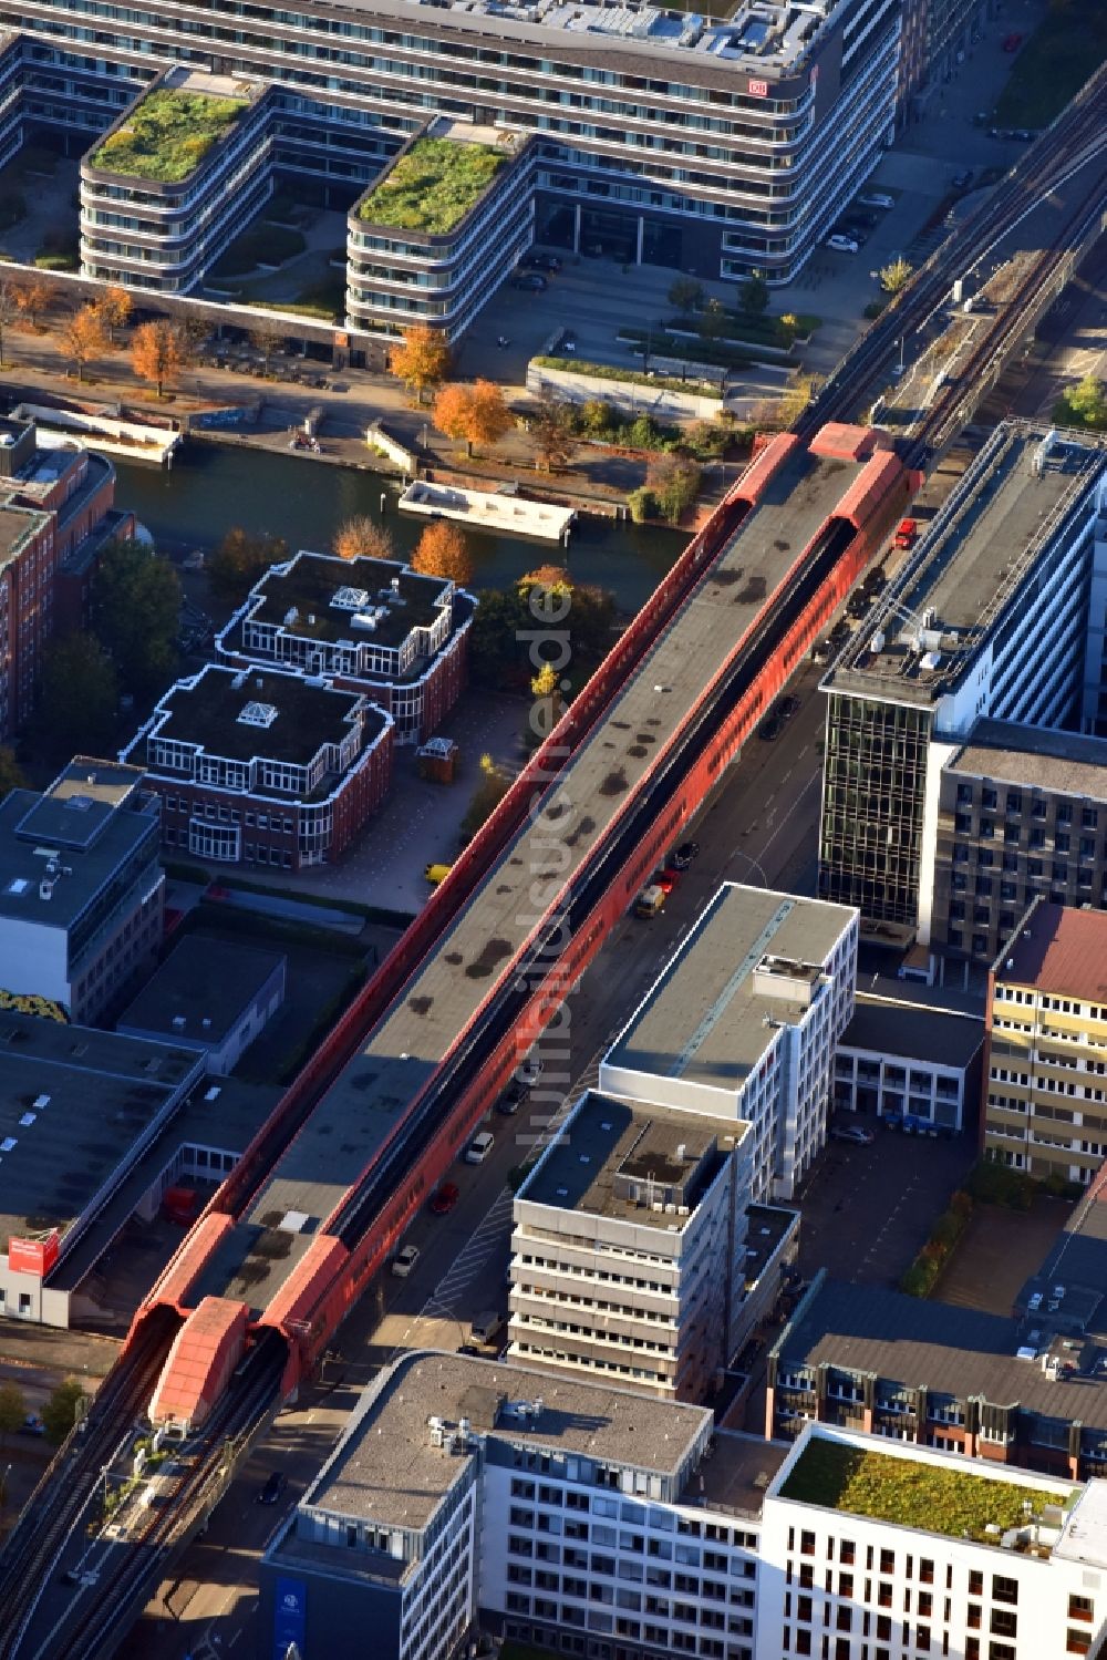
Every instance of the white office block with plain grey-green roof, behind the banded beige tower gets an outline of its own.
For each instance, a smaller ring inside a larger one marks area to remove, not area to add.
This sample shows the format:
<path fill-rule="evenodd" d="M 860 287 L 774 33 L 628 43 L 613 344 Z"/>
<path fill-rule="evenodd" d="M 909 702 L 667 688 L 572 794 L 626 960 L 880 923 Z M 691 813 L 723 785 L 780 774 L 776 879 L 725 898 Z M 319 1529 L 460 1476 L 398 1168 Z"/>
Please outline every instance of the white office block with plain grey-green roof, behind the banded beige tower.
<path fill-rule="evenodd" d="M 788 1200 L 827 1140 L 858 915 L 725 883 L 602 1059 L 611 1096 L 749 1124 L 750 1199 Z"/>

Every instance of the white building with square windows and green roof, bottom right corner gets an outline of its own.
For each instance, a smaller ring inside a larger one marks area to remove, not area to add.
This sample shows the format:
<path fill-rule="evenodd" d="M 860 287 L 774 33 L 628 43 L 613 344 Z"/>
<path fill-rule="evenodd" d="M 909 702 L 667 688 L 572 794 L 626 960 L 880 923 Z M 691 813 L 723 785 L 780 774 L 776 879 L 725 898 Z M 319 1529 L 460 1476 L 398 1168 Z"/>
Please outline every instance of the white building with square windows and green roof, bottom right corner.
<path fill-rule="evenodd" d="M 1105 1617 L 1104 1481 L 808 1426 L 765 1497 L 757 1660 L 1062 1660 Z"/>

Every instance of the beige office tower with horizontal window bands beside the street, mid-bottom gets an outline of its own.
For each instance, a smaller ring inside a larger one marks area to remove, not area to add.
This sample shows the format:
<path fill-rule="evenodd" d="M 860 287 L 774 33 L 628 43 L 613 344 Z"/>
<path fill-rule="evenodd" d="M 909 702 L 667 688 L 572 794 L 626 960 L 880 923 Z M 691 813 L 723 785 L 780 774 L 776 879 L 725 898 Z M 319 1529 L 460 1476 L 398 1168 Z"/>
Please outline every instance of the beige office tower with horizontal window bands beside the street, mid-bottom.
<path fill-rule="evenodd" d="M 749 1124 L 583 1096 L 514 1200 L 511 1360 L 710 1394 L 747 1330 L 749 1142 Z M 770 1215 L 778 1283 L 797 1217 Z"/>

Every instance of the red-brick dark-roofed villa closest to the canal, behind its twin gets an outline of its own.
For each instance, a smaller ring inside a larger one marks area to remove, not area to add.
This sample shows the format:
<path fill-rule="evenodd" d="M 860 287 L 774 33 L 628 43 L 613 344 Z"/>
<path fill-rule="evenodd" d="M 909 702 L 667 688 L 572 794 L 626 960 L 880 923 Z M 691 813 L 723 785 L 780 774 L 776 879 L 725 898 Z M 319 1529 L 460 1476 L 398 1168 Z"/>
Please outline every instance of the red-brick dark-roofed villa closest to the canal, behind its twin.
<path fill-rule="evenodd" d="M 395 720 L 397 744 L 422 744 L 465 686 L 476 601 L 393 559 L 297 553 L 274 564 L 216 639 L 221 656 L 325 676 Z"/>

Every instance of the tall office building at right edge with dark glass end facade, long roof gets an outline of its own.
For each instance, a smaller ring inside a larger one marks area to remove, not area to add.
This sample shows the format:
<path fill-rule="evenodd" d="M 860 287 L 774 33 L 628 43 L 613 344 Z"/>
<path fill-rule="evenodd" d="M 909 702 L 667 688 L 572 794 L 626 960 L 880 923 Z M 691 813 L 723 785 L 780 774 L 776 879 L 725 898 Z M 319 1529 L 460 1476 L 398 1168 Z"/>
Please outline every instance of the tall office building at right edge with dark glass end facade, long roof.
<path fill-rule="evenodd" d="M 1099 729 L 1105 503 L 1094 438 L 1006 423 L 984 445 L 823 681 L 823 898 L 929 943 L 943 769 L 974 722 Z M 1017 853 L 964 853 L 953 900 L 971 910 Z"/>

